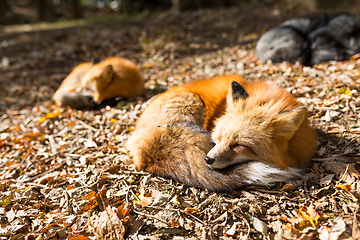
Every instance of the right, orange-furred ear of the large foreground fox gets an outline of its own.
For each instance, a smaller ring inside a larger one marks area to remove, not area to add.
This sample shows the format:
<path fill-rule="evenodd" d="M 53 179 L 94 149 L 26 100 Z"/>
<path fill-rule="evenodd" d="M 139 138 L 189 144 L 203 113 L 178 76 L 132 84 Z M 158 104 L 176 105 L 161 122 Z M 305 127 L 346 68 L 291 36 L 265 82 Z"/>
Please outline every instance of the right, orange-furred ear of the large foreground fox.
<path fill-rule="evenodd" d="M 280 113 L 279 117 L 275 120 L 275 133 L 277 136 L 285 137 L 286 140 L 291 139 L 303 123 L 305 116 L 305 106 L 296 107 L 290 111 Z"/>

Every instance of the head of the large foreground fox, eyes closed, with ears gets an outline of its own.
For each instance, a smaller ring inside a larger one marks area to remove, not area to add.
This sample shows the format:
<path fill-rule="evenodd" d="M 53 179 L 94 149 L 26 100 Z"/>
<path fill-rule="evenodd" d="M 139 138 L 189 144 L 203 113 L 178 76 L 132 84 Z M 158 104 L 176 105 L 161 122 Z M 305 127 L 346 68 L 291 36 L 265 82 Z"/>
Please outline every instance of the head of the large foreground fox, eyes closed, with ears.
<path fill-rule="evenodd" d="M 216 143 L 205 162 L 213 169 L 247 161 L 260 161 L 286 168 L 287 143 L 304 121 L 306 108 L 289 101 L 275 86 L 257 82 L 249 87 L 231 82 L 226 112 L 216 123 Z M 265 91 L 264 91 L 265 88 Z M 259 91 L 257 91 L 259 90 Z M 292 96 L 290 96 L 293 98 Z"/>

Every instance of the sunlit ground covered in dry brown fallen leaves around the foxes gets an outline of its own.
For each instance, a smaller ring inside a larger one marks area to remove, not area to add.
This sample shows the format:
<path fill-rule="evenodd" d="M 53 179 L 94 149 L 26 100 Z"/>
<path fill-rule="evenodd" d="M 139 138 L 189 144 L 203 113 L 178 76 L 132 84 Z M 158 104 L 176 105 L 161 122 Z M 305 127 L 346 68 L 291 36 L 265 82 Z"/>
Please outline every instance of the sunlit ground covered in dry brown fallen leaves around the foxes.
<path fill-rule="evenodd" d="M 255 55 L 261 33 L 301 13 L 257 6 L 0 33 L 0 239 L 359 238 L 360 57 L 304 67 Z M 93 111 L 53 105 L 76 64 L 112 55 L 138 64 L 143 96 Z M 303 178 L 214 193 L 135 171 L 123 145 L 146 101 L 230 73 L 308 107 L 319 147 Z"/>

